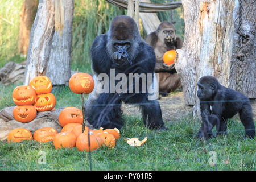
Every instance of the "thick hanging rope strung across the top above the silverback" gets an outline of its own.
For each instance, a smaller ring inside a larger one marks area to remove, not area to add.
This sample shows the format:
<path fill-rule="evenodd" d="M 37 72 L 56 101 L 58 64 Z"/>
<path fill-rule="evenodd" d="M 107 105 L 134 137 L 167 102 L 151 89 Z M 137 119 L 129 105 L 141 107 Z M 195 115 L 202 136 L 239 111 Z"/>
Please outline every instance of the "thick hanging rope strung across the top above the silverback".
<path fill-rule="evenodd" d="M 115 6 L 127 9 L 128 1 L 126 0 L 106 0 L 109 3 L 112 3 Z M 171 9 L 176 9 L 177 7 L 182 6 L 181 1 L 169 2 L 169 3 L 147 3 L 139 2 L 139 12 L 143 13 L 156 13 L 160 11 L 166 11 Z"/>

